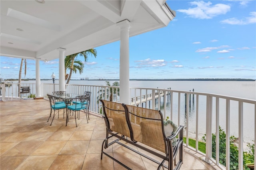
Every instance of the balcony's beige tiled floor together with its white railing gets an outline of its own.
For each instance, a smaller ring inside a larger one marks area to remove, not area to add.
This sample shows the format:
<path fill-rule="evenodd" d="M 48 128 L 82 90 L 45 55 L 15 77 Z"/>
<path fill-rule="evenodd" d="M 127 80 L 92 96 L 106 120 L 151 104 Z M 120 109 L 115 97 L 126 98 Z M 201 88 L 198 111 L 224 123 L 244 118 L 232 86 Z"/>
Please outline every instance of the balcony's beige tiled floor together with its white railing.
<path fill-rule="evenodd" d="M 34 83 L 23 85 L 30 86 L 31 93 L 35 93 Z M 16 167 L 18 167 L 17 169 L 28 169 L 30 166 L 47 166 L 43 169 L 53 169 L 55 166 L 70 166 L 70 169 L 91 169 L 92 162 L 93 166 L 97 166 L 96 169 L 122 168 L 119 164 L 104 156 L 103 160 L 100 160 L 101 143 L 105 137 L 105 123 L 101 117 L 101 105 L 99 105 L 98 99 L 109 100 L 110 95 L 112 95 L 117 96 L 113 99 L 118 101 L 118 92 L 115 89 L 119 87 L 66 85 L 67 93 L 92 92 L 89 108 L 90 121 L 87 124 L 86 118 L 84 120 L 84 117 L 82 117 L 76 128 L 72 118 L 68 126 L 65 126 L 66 119 L 61 118 L 62 113 L 60 113 L 59 119 L 54 119 L 52 126 L 47 123 L 50 109 L 46 94 L 52 93 L 54 85 L 55 90 L 58 91 L 58 84 L 41 85 L 42 96 L 46 100 L 32 100 L 26 97 L 20 99 L 20 97 L 17 97 L 18 90 L 16 88 L 18 86 L 15 83 L 6 89 L 6 102 L 1 102 L 1 168 L 2 166 L 15 166 L 14 169 Z M 191 100 L 191 107 L 190 97 L 193 99 L 193 101 Z M 186 143 L 184 144 L 184 164 L 181 169 L 228 169 L 220 164 L 220 151 L 218 150 L 220 132 L 218 127 L 224 116 L 226 126 L 222 128 L 224 128 L 227 136 L 231 136 L 230 131 L 234 129 L 231 128 L 230 113 L 238 113 L 237 137 L 238 143 L 240 143 L 238 146 L 238 164 L 239 169 L 242 169 L 241 153 L 245 150 L 245 146 L 243 146 L 245 131 L 243 117 L 246 117 L 246 113 L 250 112 L 255 119 L 255 100 L 193 91 L 130 87 L 130 103 L 146 108 L 155 106 L 155 109 L 160 108 L 162 110 L 164 117 L 170 117 L 177 125 L 185 125 L 184 137 L 186 137 Z M 185 108 L 184 103 L 186 103 Z M 194 109 L 195 114 L 193 115 L 194 122 L 191 121 L 193 118 L 191 115 L 186 116 L 186 113 L 190 114 L 192 109 Z M 85 116 L 84 114 L 81 115 Z M 254 128 L 254 132 L 250 135 L 254 140 L 255 126 L 252 128 Z M 216 133 L 217 139 L 215 159 L 212 158 L 212 133 Z M 198 147 L 204 134 L 206 134 L 205 153 L 201 152 Z M 195 148 L 190 146 L 189 138 L 195 140 Z M 230 138 L 226 137 L 226 141 L 226 155 L 229 155 L 226 157 L 226 162 L 227 167 L 229 167 Z M 28 147 L 25 142 L 29 142 L 29 148 L 23 150 L 23 148 Z M 31 148 L 31 144 L 34 145 L 33 148 Z M 140 156 L 134 155 L 134 153 L 123 148 L 112 148 L 109 152 L 116 154 L 125 164 L 133 167 L 132 169 L 156 167 L 156 164 L 143 160 Z M 82 156 L 78 156 L 79 154 Z M 45 155 L 51 155 L 52 157 Z M 33 159 L 40 159 L 42 162 L 32 161 Z M 17 163 L 14 164 L 12 161 Z M 28 162 L 31 162 L 31 165 Z"/>

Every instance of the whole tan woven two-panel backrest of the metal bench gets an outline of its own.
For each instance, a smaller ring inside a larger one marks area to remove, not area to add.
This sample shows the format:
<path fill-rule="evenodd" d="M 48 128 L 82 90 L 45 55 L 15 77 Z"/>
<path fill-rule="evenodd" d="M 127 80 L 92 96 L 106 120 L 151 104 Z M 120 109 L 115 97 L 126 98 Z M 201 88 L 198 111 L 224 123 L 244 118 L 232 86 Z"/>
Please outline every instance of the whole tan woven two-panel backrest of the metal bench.
<path fill-rule="evenodd" d="M 108 129 L 167 153 L 161 111 L 101 100 Z"/>

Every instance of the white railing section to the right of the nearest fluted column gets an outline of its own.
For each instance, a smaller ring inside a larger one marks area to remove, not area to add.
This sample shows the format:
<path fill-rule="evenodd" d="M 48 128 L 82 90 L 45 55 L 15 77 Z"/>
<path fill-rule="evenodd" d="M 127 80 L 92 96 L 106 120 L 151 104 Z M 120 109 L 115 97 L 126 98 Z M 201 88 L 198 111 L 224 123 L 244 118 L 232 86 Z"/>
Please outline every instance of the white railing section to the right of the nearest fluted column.
<path fill-rule="evenodd" d="M 243 169 L 243 144 L 245 139 L 248 140 L 244 136 L 249 136 L 250 142 L 254 140 L 254 144 L 256 143 L 256 100 L 193 91 L 138 87 L 130 87 L 130 94 L 134 97 L 131 97 L 132 105 L 161 110 L 164 117 L 170 117 L 177 125 L 184 125 L 186 147 L 205 156 L 206 162 L 213 162 L 221 169 L 225 167 L 220 164 L 219 127 L 226 132 L 226 169 L 230 167 L 230 136 L 238 137 L 238 169 Z M 162 97 L 159 97 L 161 94 Z M 138 99 L 137 102 L 134 99 Z M 235 126 L 234 117 L 237 119 Z M 245 117 L 249 117 L 252 125 L 252 127 L 247 126 L 247 134 L 244 130 Z M 216 133 L 216 160 L 212 158 L 212 133 Z M 198 143 L 204 134 L 206 134 L 205 154 L 198 150 Z M 195 148 L 189 146 L 189 138 L 196 141 Z M 254 153 L 254 161 L 255 158 Z"/>

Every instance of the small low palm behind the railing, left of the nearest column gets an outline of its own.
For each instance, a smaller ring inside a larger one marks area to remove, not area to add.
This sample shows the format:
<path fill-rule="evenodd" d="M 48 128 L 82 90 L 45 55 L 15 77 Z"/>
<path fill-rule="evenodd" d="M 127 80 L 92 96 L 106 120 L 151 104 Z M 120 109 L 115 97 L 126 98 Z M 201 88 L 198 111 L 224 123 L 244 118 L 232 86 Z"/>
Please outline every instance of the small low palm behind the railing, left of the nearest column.
<path fill-rule="evenodd" d="M 114 83 L 112 83 L 112 85 L 110 85 L 109 81 L 105 81 L 107 86 L 120 86 L 118 81 L 115 81 Z M 116 95 L 117 92 L 117 95 Z M 117 101 L 117 97 L 119 96 L 119 88 L 114 88 L 114 87 L 109 87 L 105 89 L 100 89 L 100 91 L 98 91 L 99 95 L 98 95 L 98 100 L 99 98 L 102 99 L 102 96 L 104 97 L 106 95 L 106 98 L 108 99 L 109 97 L 109 101 L 113 101 L 116 99 Z"/>

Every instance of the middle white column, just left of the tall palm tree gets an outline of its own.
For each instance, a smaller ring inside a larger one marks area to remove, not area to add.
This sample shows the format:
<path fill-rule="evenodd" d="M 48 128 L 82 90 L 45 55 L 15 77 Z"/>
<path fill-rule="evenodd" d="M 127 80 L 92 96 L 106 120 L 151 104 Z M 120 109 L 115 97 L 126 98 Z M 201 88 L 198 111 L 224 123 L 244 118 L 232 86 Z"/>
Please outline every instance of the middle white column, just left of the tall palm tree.
<path fill-rule="evenodd" d="M 59 51 L 59 91 L 66 91 L 65 85 L 65 49 L 58 48 Z"/>

